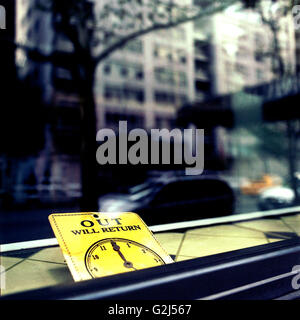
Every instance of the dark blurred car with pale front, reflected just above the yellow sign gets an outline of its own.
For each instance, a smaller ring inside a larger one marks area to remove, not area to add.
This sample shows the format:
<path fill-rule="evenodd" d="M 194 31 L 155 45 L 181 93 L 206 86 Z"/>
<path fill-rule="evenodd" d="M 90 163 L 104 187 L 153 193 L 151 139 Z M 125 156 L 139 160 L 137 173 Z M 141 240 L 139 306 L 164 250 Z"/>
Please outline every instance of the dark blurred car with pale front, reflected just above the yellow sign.
<path fill-rule="evenodd" d="M 132 211 L 150 225 L 230 215 L 234 208 L 232 188 L 213 177 L 146 182 L 131 188 L 128 194 L 99 199 L 100 211 Z"/>

